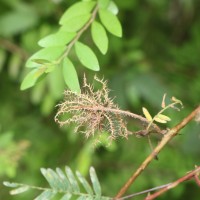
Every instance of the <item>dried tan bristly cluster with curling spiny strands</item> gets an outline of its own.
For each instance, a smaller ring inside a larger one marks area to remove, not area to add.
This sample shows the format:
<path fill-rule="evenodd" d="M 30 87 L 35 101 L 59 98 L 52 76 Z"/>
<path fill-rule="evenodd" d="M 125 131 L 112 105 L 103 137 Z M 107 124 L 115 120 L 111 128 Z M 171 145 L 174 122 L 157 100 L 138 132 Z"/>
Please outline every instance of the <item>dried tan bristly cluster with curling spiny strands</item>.
<path fill-rule="evenodd" d="M 61 126 L 76 124 L 75 131 L 84 133 L 86 138 L 104 132 L 110 134 L 111 140 L 117 136 L 127 137 L 129 131 L 126 128 L 124 115 L 130 113 L 121 111 L 114 104 L 113 99 L 108 96 L 106 81 L 97 77 L 95 80 L 102 85 L 101 89 L 95 91 L 84 77 L 81 93 L 70 90 L 64 92 L 64 102 L 57 105 L 59 110 L 55 121 Z"/>

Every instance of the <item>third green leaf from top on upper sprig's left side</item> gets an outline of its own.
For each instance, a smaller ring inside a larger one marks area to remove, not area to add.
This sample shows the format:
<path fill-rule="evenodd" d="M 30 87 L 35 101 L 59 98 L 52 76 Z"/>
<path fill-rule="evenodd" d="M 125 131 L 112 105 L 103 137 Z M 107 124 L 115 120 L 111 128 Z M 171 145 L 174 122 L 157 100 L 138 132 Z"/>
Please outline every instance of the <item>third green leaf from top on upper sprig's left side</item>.
<path fill-rule="evenodd" d="M 51 47 L 51 46 L 66 46 L 74 37 L 76 33 L 66 32 L 63 30 L 58 31 L 57 33 L 48 35 L 41 40 L 38 44 L 41 47 Z"/>

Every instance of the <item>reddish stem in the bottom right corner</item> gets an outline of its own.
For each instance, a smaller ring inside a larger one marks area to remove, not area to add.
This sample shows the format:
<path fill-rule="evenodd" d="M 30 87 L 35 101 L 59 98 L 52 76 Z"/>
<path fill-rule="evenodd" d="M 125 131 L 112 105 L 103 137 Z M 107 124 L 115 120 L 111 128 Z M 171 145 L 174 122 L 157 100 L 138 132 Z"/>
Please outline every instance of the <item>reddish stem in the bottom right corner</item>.
<path fill-rule="evenodd" d="M 145 200 L 153 200 L 153 199 L 155 199 L 156 197 L 160 196 L 164 192 L 167 192 L 168 190 L 170 190 L 172 188 L 175 188 L 180 183 L 196 177 L 199 174 L 199 172 L 200 172 L 200 166 L 197 167 L 195 170 L 190 171 L 187 175 L 179 178 L 178 180 L 174 181 L 173 183 L 171 183 L 171 184 L 167 185 L 166 187 L 160 189 L 159 191 L 155 192 L 154 194 L 146 197 Z"/>

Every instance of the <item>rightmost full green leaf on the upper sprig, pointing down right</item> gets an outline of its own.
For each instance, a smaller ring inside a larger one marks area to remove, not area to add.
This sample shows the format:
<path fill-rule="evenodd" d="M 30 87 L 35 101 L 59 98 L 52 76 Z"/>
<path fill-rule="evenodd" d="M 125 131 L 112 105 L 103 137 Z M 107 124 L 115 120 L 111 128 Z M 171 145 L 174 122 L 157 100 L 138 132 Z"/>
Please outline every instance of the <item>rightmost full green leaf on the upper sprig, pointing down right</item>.
<path fill-rule="evenodd" d="M 99 10 L 99 17 L 106 29 L 117 37 L 122 37 L 122 27 L 118 18 L 105 9 Z"/>

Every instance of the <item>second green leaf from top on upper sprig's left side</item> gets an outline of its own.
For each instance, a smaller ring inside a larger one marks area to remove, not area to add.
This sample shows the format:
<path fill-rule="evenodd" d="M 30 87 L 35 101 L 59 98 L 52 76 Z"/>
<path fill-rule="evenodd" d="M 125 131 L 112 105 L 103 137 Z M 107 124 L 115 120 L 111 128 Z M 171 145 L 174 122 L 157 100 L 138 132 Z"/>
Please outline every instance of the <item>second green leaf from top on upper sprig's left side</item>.
<path fill-rule="evenodd" d="M 60 28 L 61 31 L 76 32 L 81 29 L 90 19 L 91 14 L 84 14 L 75 16 L 63 24 Z"/>

